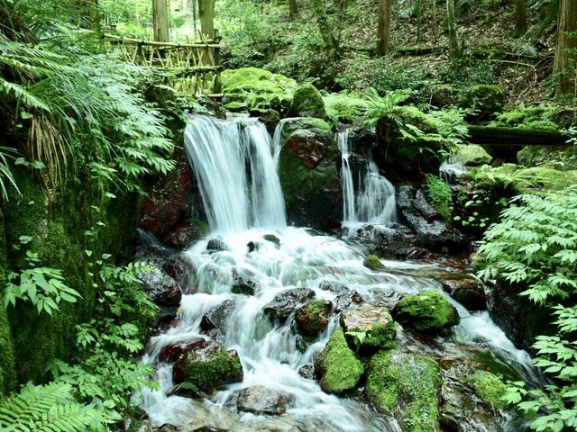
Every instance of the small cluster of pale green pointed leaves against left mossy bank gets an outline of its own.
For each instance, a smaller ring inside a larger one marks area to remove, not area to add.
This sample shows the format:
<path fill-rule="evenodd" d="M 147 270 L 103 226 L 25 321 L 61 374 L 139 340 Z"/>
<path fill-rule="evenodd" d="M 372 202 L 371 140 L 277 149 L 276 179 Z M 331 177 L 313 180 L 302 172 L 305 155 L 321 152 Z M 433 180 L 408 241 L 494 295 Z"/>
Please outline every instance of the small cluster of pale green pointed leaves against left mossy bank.
<path fill-rule="evenodd" d="M 38 313 L 42 311 L 50 316 L 58 311 L 61 301 L 74 303 L 80 298 L 78 291 L 64 284 L 62 271 L 50 267 L 37 267 L 38 254 L 26 251 L 26 261 L 32 268 L 8 275 L 4 289 L 4 307 L 16 305 L 16 299 L 31 302 Z"/>

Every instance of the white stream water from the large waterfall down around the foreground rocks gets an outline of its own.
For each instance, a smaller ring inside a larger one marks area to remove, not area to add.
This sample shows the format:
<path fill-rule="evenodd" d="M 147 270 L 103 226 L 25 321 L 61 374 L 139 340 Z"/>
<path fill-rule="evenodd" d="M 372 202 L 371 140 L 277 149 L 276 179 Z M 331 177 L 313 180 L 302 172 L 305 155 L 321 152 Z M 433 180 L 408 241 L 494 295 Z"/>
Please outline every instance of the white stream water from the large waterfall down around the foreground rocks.
<path fill-rule="evenodd" d="M 142 407 L 151 422 L 155 426 L 174 424 L 181 430 L 209 425 L 234 431 L 398 432 L 395 419 L 378 416 L 360 401 L 326 394 L 315 380 L 298 374 L 299 368 L 313 363 L 325 347 L 338 325 L 336 319 L 301 352 L 290 320 L 273 325 L 262 308 L 277 294 L 294 287 L 308 287 L 317 298 L 334 300 L 335 294 L 323 289 L 326 283 L 345 284 L 364 301 L 387 304 L 395 293 L 439 290 L 440 284 L 431 275 L 450 268 L 437 263 L 383 261 L 385 270 L 372 272 L 362 265 L 362 249 L 337 238 L 312 235 L 307 229 L 287 227 L 275 169 L 279 139 L 271 140 L 257 121 L 192 116 L 185 144 L 211 233 L 184 253 L 195 275 L 183 295 L 178 325 L 151 338 L 144 356 L 160 383 L 159 391 L 143 394 Z M 369 193 L 366 186 L 364 192 Z M 277 236 L 279 245 L 266 240 L 263 236 L 267 234 Z M 227 250 L 207 251 L 210 238 L 220 238 Z M 260 246 L 249 251 L 249 242 Z M 234 272 L 251 275 L 256 283 L 253 296 L 231 293 Z M 205 400 L 167 396 L 173 385 L 171 365 L 158 360 L 160 350 L 189 338 L 207 338 L 200 329 L 202 317 L 226 300 L 234 302 L 234 311 L 226 319 L 224 346 L 237 350 L 243 363 L 243 382 Z M 486 348 L 530 379 L 534 371 L 527 353 L 513 347 L 487 313 L 471 314 L 453 304 L 462 320 L 447 343 Z M 267 417 L 238 412 L 235 395 L 254 384 L 290 393 L 293 400 L 287 413 Z"/>

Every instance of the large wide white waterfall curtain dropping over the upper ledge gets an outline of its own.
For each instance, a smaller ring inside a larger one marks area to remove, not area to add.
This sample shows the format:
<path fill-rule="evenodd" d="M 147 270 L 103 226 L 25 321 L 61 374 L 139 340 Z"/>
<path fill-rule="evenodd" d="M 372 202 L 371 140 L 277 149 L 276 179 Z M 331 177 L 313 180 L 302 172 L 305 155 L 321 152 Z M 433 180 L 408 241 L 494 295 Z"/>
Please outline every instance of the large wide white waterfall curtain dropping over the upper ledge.
<path fill-rule="evenodd" d="M 191 115 L 184 141 L 212 231 L 286 227 L 277 150 L 261 121 Z"/>

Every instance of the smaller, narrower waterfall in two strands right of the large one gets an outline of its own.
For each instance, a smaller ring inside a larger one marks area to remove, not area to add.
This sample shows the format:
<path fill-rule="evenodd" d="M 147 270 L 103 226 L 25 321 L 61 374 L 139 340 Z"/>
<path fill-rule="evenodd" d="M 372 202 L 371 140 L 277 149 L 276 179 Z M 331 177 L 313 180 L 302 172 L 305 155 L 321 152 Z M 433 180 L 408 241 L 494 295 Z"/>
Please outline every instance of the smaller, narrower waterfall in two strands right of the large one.
<path fill-rule="evenodd" d="M 360 179 L 360 190 L 355 198 L 348 139 L 348 129 L 336 133 L 336 143 L 341 150 L 343 161 L 341 166 L 343 227 L 356 228 L 368 223 L 390 227 L 397 220 L 395 186 L 385 176 L 380 175 L 379 168 L 370 160 L 365 175 Z"/>

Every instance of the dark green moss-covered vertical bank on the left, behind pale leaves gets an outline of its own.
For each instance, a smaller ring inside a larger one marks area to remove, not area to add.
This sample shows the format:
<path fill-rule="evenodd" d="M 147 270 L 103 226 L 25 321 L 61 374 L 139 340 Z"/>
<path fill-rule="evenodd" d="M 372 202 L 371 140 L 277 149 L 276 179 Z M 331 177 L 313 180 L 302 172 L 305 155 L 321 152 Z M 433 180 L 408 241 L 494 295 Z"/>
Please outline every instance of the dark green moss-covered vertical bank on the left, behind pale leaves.
<path fill-rule="evenodd" d="M 53 317 L 39 315 L 24 302 L 9 306 L 7 320 L 5 311 L 0 311 L 0 391 L 5 392 L 16 382 L 41 381 L 51 358 L 67 360 L 73 354 L 75 326 L 91 317 L 96 301 L 92 263 L 104 253 L 122 255 L 133 236 L 138 208 L 133 196 L 107 197 L 105 186 L 92 181 L 87 172 L 69 174 L 59 191 L 48 193 L 29 168 L 14 166 L 14 175 L 22 196 L 13 193 L 2 205 L 1 273 L 27 268 L 24 257 L 31 251 L 38 254 L 37 266 L 62 270 L 65 283 L 82 300 L 61 302 Z"/>

